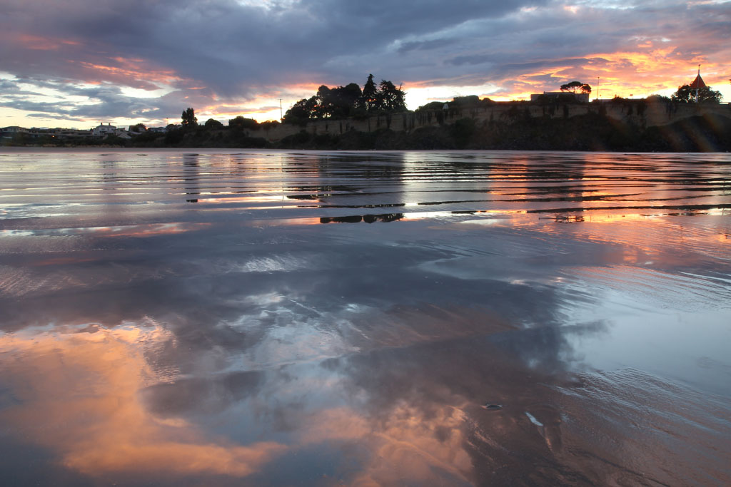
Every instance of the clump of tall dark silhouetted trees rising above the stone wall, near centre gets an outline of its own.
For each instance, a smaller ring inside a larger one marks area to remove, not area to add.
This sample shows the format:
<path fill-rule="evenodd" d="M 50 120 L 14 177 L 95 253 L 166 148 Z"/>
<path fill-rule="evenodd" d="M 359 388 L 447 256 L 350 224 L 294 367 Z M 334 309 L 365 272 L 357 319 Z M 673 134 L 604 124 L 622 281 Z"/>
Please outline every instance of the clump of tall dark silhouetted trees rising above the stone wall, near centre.
<path fill-rule="evenodd" d="M 373 74 L 363 89 L 356 83 L 328 88 L 322 85 L 310 98 L 303 98 L 284 115 L 284 123 L 303 125 L 321 118 L 361 118 L 379 113 L 405 112 L 406 93 L 387 80 L 376 85 Z"/>

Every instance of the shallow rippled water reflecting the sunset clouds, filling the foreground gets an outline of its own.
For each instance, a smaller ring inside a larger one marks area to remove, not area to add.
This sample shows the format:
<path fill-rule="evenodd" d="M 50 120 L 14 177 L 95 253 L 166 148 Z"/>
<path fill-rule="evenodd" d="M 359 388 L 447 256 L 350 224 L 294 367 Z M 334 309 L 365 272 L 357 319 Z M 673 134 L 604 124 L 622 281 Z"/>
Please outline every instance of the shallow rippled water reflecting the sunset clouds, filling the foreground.
<path fill-rule="evenodd" d="M 7 485 L 728 485 L 731 156 L 0 152 Z"/>

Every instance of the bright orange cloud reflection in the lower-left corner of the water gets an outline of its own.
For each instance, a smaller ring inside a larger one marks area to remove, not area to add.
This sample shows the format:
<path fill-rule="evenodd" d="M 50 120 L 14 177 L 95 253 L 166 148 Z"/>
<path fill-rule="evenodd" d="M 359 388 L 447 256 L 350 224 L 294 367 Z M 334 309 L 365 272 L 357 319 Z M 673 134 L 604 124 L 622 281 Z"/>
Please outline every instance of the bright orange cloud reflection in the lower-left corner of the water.
<path fill-rule="evenodd" d="M 154 348 L 166 338 L 158 328 L 3 335 L 1 380 L 13 403 L 0 417 L 25 440 L 56 450 L 69 469 L 93 477 L 246 476 L 287 449 L 276 442 L 236 445 L 181 419 L 151 415 L 137 393 L 156 381 L 155 372 L 138 344 Z M 39 418 L 42 428 L 35 426 Z"/>

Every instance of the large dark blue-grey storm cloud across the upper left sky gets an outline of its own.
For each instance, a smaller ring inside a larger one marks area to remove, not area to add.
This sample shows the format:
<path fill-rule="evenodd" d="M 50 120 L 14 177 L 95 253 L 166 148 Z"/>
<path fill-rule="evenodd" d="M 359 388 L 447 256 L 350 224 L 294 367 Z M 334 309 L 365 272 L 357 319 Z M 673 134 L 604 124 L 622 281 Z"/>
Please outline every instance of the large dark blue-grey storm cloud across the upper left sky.
<path fill-rule="evenodd" d="M 88 64 L 118 67 L 110 59 L 141 58 L 150 71 L 155 66 L 173 69 L 219 93 L 240 94 L 256 85 L 302 82 L 308 74 L 346 80 L 351 73 L 322 69 L 323 64 L 338 55 L 373 53 L 396 39 L 472 18 L 499 17 L 535 3 L 321 0 L 267 10 L 230 0 L 11 1 L 5 15 L 4 38 L 10 45 L 3 53 L 4 69 L 88 80 L 94 72 Z M 357 74 L 365 77 L 367 72 L 362 66 Z"/>

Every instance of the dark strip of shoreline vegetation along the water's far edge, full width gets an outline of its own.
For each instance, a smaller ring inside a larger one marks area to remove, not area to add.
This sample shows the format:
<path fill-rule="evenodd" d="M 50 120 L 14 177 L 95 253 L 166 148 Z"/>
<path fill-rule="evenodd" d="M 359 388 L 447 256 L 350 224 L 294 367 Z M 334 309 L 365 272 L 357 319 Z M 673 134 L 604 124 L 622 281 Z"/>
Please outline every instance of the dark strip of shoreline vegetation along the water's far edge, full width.
<path fill-rule="evenodd" d="M 607 153 L 725 153 L 731 151 L 731 116 L 708 112 L 663 125 L 643 125 L 637 117 L 618 120 L 599 113 L 567 118 L 517 114 L 512 119 L 487 120 L 456 114 L 452 123 L 414 129 L 379 127 L 360 131 L 352 120 L 319 120 L 306 126 L 284 126 L 276 138 L 265 129 L 174 129 L 154 136 L 115 139 L 110 144 L 4 145 L 2 147 L 107 150 L 527 150 Z M 731 115 L 731 113 L 730 113 Z M 458 118 L 461 117 L 461 118 Z M 444 121 L 444 120 L 442 120 Z M 645 120 L 646 122 L 647 120 Z M 31 141 L 28 141 L 31 142 Z M 99 141 L 96 141 L 99 142 Z"/>

